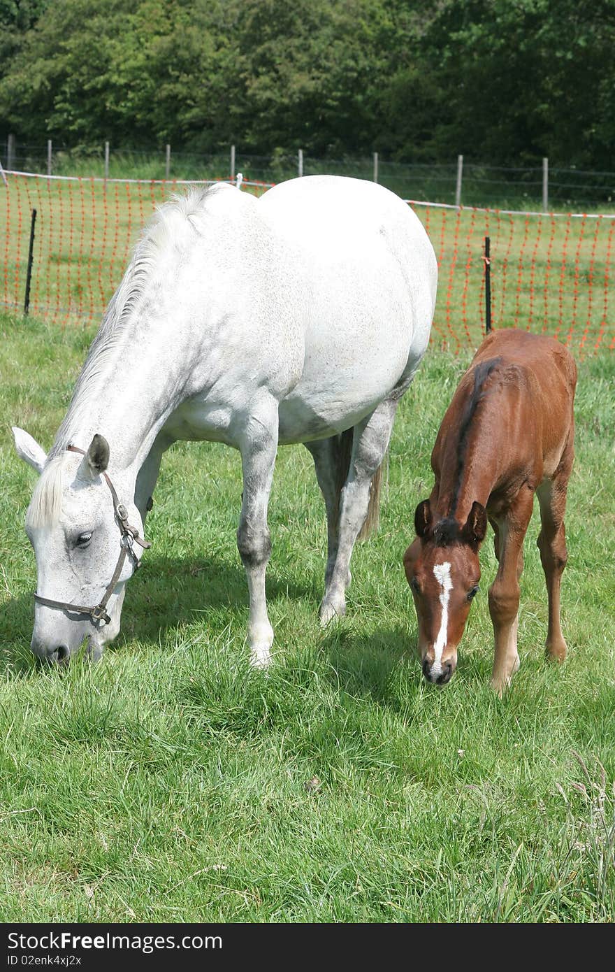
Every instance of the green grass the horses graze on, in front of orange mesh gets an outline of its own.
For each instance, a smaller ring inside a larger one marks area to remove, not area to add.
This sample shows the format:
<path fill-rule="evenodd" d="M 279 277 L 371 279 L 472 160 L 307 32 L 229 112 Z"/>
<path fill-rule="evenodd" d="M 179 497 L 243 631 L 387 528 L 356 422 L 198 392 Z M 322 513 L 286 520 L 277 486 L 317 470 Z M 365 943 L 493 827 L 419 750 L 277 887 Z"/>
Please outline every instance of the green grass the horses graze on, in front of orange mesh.
<path fill-rule="evenodd" d="M 500 700 L 485 593 L 437 689 L 415 658 L 401 568 L 466 354 L 431 351 L 402 402 L 381 530 L 356 550 L 336 627 L 317 621 L 325 522 L 311 459 L 282 449 L 275 663 L 267 677 L 249 669 L 239 460 L 183 445 L 163 464 L 118 642 L 98 666 L 60 673 L 29 653 L 34 473 L 8 426 L 49 446 L 91 332 L 3 316 L 0 333 L 0 920 L 615 919 L 611 356 L 580 365 L 569 656 L 543 659 L 534 518 L 522 668 Z M 482 564 L 486 591 L 491 542 Z"/>

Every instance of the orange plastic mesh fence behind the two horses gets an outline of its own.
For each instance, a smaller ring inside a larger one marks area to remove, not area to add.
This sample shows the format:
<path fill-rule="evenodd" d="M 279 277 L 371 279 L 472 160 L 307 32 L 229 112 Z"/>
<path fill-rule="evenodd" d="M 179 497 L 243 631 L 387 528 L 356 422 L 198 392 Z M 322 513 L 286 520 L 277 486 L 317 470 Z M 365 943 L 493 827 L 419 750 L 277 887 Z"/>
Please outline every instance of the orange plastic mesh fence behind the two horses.
<path fill-rule="evenodd" d="M 97 321 L 139 233 L 176 182 L 7 173 L 0 185 L 0 306 L 23 306 L 30 214 L 37 210 L 30 310 L 60 324 Z M 260 194 L 267 184 L 243 183 Z M 438 259 L 432 341 L 475 347 L 485 330 L 484 237 L 491 237 L 492 322 L 553 334 L 578 354 L 615 348 L 615 217 L 514 213 L 409 201 Z"/>

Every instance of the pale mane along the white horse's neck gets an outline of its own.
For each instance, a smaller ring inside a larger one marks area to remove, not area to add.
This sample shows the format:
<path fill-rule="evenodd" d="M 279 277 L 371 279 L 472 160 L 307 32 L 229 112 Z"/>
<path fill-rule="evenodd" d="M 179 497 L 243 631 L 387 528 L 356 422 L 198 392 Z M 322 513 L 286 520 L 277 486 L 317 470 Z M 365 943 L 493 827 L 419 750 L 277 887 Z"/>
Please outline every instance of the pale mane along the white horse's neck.
<path fill-rule="evenodd" d="M 89 348 L 73 399 L 51 447 L 50 459 L 64 452 L 83 424 L 91 402 L 100 396 L 101 385 L 129 333 L 128 325 L 147 299 L 150 285 L 167 276 L 169 261 L 180 260 L 194 236 L 202 233 L 206 215 L 204 203 L 213 191 L 218 191 L 218 187 L 192 188 L 185 195 L 172 196 L 156 208 Z M 79 444 L 85 448 L 86 443 Z M 45 489 L 43 492 L 55 496 L 55 490 Z"/>

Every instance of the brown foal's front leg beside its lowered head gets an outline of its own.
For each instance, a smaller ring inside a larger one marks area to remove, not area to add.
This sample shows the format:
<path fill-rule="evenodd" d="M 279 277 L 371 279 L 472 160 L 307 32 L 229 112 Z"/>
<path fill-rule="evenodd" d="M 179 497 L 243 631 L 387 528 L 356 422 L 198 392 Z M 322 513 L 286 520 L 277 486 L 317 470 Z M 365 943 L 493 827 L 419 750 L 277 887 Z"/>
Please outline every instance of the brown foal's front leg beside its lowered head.
<path fill-rule="evenodd" d="M 523 541 L 530 523 L 533 493 L 523 487 L 499 520 L 496 555 L 499 567 L 489 590 L 489 612 L 494 625 L 495 654 L 492 687 L 501 694 L 519 668 L 519 579 L 523 571 Z"/>

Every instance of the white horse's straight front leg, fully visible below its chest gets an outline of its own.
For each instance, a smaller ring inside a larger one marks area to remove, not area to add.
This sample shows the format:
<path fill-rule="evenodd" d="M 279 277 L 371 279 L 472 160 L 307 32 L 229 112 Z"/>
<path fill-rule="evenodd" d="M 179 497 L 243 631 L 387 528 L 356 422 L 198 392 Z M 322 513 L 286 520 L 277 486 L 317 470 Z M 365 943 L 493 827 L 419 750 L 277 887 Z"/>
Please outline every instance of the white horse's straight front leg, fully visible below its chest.
<path fill-rule="evenodd" d="M 273 628 L 269 623 L 265 598 L 265 573 L 271 554 L 267 505 L 278 448 L 277 401 L 260 401 L 251 410 L 239 448 L 244 493 L 237 546 L 246 569 L 250 592 L 250 661 L 256 668 L 264 668 L 271 661 L 273 642 Z"/>

